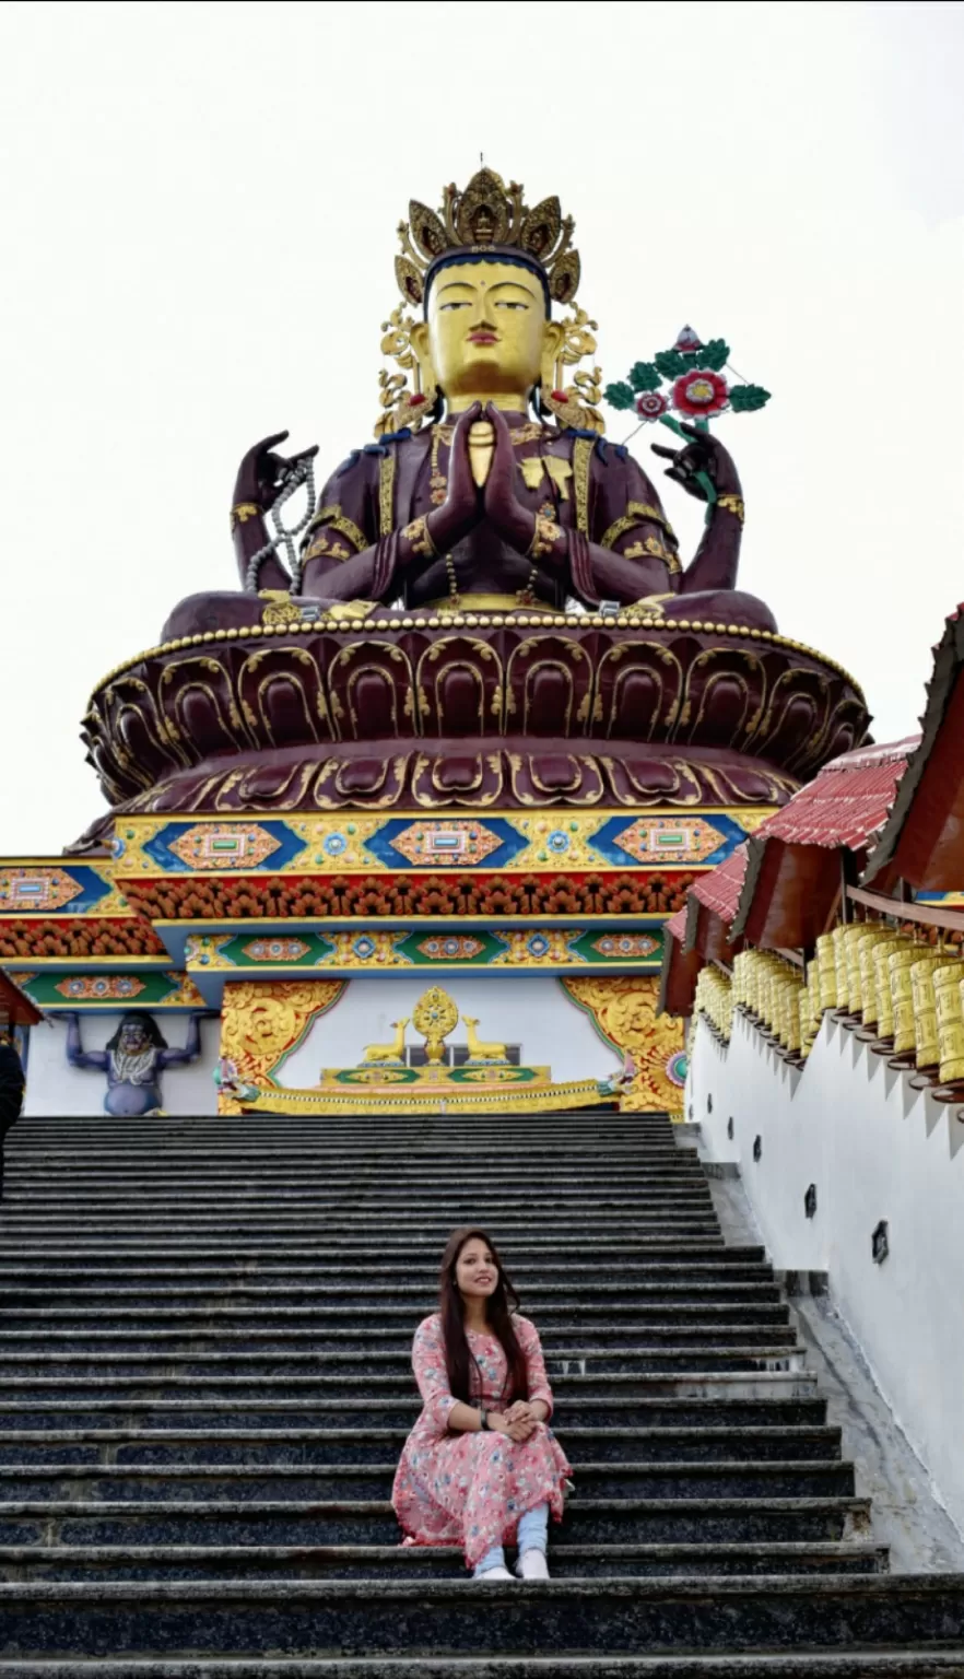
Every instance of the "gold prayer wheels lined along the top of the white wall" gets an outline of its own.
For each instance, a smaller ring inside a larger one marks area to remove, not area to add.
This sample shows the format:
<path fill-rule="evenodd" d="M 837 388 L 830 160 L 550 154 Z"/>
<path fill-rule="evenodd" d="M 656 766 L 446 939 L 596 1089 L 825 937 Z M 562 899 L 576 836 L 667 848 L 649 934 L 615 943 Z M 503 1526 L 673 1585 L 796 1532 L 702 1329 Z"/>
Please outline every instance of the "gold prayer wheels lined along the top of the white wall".
<path fill-rule="evenodd" d="M 710 972 L 704 969 L 704 974 Z M 714 970 L 707 999 L 726 975 Z M 704 975 L 700 975 L 702 984 Z M 712 987 L 712 991 L 710 991 Z M 959 950 L 873 922 L 816 940 L 804 970 L 769 950 L 734 959 L 732 1007 L 742 1007 L 791 1058 L 806 1059 L 825 1009 L 835 1009 L 892 1066 L 915 1068 L 920 1086 L 961 1100 L 964 1085 L 964 960 Z M 714 1007 L 720 1007 L 714 1001 Z M 704 1009 L 712 1021 L 710 1006 Z M 715 1023 L 714 1023 L 715 1024 Z M 729 1028 L 727 1028 L 729 1038 Z"/>

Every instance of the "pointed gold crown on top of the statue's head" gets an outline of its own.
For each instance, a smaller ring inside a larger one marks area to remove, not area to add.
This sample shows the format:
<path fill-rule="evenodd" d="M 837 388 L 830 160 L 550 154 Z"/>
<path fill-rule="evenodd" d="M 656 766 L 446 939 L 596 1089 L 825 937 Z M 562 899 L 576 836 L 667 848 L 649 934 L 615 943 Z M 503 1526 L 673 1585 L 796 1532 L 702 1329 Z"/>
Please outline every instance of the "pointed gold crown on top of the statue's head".
<path fill-rule="evenodd" d="M 443 190 L 438 212 L 411 200 L 408 222 L 400 222 L 401 255 L 395 279 L 406 302 L 422 304 L 432 270 L 440 262 L 467 255 L 507 255 L 526 262 L 544 279 L 553 302 L 569 304 L 579 287 L 579 252 L 571 248 L 573 217 L 563 217 L 558 198 L 526 208 L 524 188 L 506 186 L 494 170 L 479 170 L 464 191 Z"/>

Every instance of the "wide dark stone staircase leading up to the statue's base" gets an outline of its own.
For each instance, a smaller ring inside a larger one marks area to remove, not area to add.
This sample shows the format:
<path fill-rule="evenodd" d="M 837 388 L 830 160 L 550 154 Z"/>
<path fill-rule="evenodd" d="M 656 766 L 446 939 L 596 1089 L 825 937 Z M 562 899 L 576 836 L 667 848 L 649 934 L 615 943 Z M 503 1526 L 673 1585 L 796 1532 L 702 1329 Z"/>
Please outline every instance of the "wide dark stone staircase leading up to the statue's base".
<path fill-rule="evenodd" d="M 576 1469 L 547 1585 L 403 1548 L 411 1333 L 499 1241 Z M 964 1674 L 892 1575 L 761 1247 L 668 1120 L 22 1120 L 0 1679 Z"/>

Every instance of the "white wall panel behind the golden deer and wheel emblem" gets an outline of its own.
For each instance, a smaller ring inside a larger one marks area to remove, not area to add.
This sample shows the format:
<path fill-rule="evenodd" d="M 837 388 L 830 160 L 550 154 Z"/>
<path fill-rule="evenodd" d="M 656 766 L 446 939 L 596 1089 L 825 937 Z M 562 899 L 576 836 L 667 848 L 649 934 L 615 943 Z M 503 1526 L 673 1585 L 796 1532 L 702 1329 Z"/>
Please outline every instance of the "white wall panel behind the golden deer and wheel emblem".
<path fill-rule="evenodd" d="M 507 974 L 432 981 L 353 979 L 327 1014 L 314 1023 L 279 1075 L 287 1090 L 309 1090 L 322 1066 L 358 1066 L 366 1044 L 390 1043 L 391 1021 L 411 1016 L 428 986 L 442 984 L 460 1014 L 479 1021 L 479 1038 L 522 1046 L 529 1066 L 551 1066 L 554 1080 L 605 1078 L 621 1061 L 596 1034 L 591 1019 L 563 991 L 554 974 Z M 413 1026 L 406 1043 L 423 1044 Z M 447 1039 L 467 1043 L 462 1023 Z"/>

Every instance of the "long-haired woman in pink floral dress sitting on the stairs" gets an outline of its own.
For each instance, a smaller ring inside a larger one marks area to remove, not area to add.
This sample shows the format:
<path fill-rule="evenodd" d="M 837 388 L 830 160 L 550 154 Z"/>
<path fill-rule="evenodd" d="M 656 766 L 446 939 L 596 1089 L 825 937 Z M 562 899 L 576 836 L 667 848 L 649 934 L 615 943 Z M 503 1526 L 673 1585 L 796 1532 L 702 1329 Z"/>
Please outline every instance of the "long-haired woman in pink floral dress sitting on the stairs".
<path fill-rule="evenodd" d="M 549 1511 L 561 1519 L 566 1456 L 546 1427 L 553 1392 L 536 1328 L 484 1231 L 460 1229 L 442 1256 L 440 1310 L 415 1331 L 423 1399 L 391 1504 L 408 1545 L 460 1545 L 475 1580 L 547 1580 Z"/>

